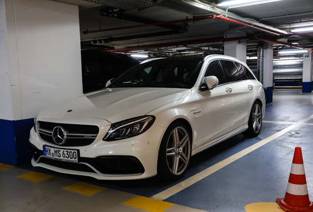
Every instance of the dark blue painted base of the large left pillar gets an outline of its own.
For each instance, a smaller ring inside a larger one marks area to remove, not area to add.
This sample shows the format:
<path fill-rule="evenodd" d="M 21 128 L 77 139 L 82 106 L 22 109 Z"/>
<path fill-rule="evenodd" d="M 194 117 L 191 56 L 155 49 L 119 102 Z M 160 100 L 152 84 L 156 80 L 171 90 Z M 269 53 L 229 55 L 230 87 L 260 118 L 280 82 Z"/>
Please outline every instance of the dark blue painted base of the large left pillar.
<path fill-rule="evenodd" d="M 13 166 L 31 162 L 32 150 L 29 145 L 33 119 L 17 121 L 0 119 L 0 163 Z"/>

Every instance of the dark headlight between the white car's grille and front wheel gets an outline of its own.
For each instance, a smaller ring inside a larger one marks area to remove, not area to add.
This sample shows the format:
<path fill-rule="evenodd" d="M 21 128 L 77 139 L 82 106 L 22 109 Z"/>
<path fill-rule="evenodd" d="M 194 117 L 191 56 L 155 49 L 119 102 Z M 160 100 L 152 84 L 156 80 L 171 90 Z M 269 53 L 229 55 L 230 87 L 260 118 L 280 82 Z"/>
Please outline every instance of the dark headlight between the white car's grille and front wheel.
<path fill-rule="evenodd" d="M 155 120 L 154 116 L 139 116 L 114 123 L 102 140 L 115 141 L 139 135 L 146 132 Z"/>

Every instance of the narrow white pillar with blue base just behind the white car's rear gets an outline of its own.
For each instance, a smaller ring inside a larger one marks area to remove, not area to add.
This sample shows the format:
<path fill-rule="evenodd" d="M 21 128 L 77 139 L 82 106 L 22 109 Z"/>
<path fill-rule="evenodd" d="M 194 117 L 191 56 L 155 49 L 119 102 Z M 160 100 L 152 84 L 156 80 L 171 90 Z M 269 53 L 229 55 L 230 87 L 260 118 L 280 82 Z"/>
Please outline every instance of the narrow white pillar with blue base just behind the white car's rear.
<path fill-rule="evenodd" d="M 263 87 L 266 104 L 273 102 L 273 43 L 264 43 Z"/>

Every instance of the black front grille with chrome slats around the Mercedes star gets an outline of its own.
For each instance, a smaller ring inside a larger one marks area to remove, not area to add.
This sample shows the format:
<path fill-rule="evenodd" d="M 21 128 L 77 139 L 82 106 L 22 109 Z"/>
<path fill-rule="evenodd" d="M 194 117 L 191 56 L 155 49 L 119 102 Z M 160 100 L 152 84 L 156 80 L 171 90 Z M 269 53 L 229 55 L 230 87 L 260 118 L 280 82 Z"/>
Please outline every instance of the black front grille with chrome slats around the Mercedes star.
<path fill-rule="evenodd" d="M 57 144 L 53 139 L 53 129 L 61 126 L 66 131 L 66 141 L 60 146 L 87 146 L 94 142 L 99 128 L 94 125 L 62 124 L 39 121 L 38 134 L 48 143 Z"/>

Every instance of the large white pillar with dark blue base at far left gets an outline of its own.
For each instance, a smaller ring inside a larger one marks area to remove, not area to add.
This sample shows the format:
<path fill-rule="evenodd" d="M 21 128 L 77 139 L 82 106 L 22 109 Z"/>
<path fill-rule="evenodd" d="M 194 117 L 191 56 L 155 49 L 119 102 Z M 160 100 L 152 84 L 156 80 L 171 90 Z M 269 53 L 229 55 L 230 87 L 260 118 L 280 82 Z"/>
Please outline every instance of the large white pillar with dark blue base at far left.
<path fill-rule="evenodd" d="M 78 6 L 0 0 L 0 163 L 29 163 L 33 117 L 80 94 Z"/>

